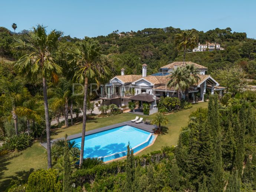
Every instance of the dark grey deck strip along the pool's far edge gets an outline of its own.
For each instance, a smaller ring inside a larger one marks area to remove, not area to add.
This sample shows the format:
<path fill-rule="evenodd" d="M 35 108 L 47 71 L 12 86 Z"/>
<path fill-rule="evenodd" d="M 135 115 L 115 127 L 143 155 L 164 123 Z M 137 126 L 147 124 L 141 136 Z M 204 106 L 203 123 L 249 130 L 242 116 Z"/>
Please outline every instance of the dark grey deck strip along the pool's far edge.
<path fill-rule="evenodd" d="M 138 124 L 138 123 L 132 123 L 131 121 L 126 121 L 126 122 L 122 122 L 122 123 L 118 123 L 118 124 L 114 124 L 114 125 L 109 125 L 109 126 L 106 126 L 106 127 L 103 127 L 103 128 L 86 131 L 85 135 L 91 135 L 93 133 L 102 132 L 102 131 L 105 131 L 105 130 L 121 127 L 121 126 L 124 126 L 124 125 L 129 125 L 129 126 L 132 126 L 132 127 L 138 128 L 138 129 L 142 129 L 142 130 L 145 130 L 145 131 L 150 132 L 150 133 L 154 133 L 154 129 L 155 129 L 155 127 L 153 125 L 147 125 L 143 122 Z M 82 133 L 77 133 L 75 135 L 70 135 L 70 136 L 68 136 L 67 139 L 70 140 L 70 139 L 75 139 L 75 138 L 79 138 L 79 137 L 82 137 Z M 54 143 L 55 141 L 57 141 L 59 139 L 65 139 L 65 138 L 63 137 L 63 138 L 53 139 L 53 140 L 51 140 L 51 143 Z M 45 143 L 40 143 L 40 144 L 45 149 L 47 149 L 46 142 Z"/>

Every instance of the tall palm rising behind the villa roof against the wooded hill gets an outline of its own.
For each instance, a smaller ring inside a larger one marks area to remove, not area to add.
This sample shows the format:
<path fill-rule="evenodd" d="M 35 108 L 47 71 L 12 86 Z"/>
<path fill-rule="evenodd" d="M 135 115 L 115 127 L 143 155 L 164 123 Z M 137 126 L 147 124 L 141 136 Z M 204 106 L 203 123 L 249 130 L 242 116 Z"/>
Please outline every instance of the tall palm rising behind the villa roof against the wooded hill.
<path fill-rule="evenodd" d="M 194 33 L 194 30 L 184 30 L 181 33 L 176 34 L 175 44 L 179 50 L 183 50 L 183 64 L 185 64 L 186 51 L 190 47 L 194 47 L 197 43 L 198 36 Z"/>

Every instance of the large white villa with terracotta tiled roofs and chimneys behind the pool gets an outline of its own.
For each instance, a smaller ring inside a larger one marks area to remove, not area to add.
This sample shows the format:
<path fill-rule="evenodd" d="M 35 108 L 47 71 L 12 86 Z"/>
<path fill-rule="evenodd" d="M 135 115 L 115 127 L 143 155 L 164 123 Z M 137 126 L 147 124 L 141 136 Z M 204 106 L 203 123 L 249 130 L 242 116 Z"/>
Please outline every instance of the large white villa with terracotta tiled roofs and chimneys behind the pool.
<path fill-rule="evenodd" d="M 222 94 L 225 87 L 221 87 L 213 77 L 205 74 L 207 67 L 193 62 L 185 62 L 185 64 L 195 65 L 200 77 L 197 85 L 190 86 L 188 90 L 191 102 L 195 102 L 195 93 L 199 93 L 198 100 L 204 100 L 206 89 L 209 89 L 211 94 L 214 94 L 214 91 Z M 167 83 L 171 79 L 173 70 L 182 65 L 183 62 L 173 62 L 161 67 L 158 73 L 148 76 L 147 64 L 142 65 L 142 75 L 125 75 L 125 70 L 121 69 L 121 75 L 113 77 L 108 84 L 101 85 L 100 98 L 104 105 L 113 103 L 119 107 L 127 106 L 132 100 L 147 102 L 150 104 L 150 114 L 156 113 L 157 100 L 160 96 L 178 97 L 177 90 L 174 90 L 174 87 L 167 87 Z M 184 99 L 185 92 L 181 95 Z"/>

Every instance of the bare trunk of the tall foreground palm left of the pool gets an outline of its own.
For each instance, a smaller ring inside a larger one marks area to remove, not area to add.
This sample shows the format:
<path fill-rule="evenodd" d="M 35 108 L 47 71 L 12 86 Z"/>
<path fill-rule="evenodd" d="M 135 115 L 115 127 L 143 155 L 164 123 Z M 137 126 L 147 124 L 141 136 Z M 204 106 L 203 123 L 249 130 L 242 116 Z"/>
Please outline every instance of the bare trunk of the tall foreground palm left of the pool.
<path fill-rule="evenodd" d="M 48 165 L 48 169 L 50 169 L 50 168 L 52 168 L 52 156 L 51 156 L 51 143 L 50 143 L 50 141 L 51 141 L 51 139 L 50 139 L 50 121 L 49 121 L 49 110 L 48 110 L 48 100 L 47 100 L 47 84 L 46 84 L 45 77 L 43 77 L 43 100 L 44 100 L 44 104 L 45 104 L 47 165 Z"/>

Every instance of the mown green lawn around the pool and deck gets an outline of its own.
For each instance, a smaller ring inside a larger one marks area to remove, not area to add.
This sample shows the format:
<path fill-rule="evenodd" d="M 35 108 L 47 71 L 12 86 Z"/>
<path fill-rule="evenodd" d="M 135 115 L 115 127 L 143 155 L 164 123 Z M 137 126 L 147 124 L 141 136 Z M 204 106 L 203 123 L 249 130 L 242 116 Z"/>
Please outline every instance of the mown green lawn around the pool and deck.
<path fill-rule="evenodd" d="M 167 127 L 164 135 L 157 137 L 154 145 L 150 148 L 139 153 L 139 155 L 152 152 L 154 150 L 161 149 L 165 145 L 177 145 L 178 135 L 180 133 L 181 127 L 187 125 L 188 116 L 198 107 L 206 107 L 207 102 L 198 103 L 193 105 L 191 109 L 183 110 L 177 113 L 168 115 L 169 123 L 165 125 Z M 135 114 L 132 113 L 122 113 L 120 115 L 97 118 L 95 120 L 90 120 L 86 123 L 86 130 L 92 130 L 101 128 L 108 125 L 113 125 L 116 123 L 121 123 L 130 119 L 135 118 Z M 147 118 L 152 119 L 154 115 L 150 115 Z M 67 133 L 68 135 L 73 135 L 80 133 L 82 129 L 82 123 L 79 123 L 69 128 L 60 128 L 51 132 L 51 139 L 62 138 Z M 45 148 L 43 148 L 39 142 L 33 143 L 30 148 L 23 150 L 18 153 L 10 153 L 7 156 L 1 156 L 0 159 L 0 191 L 4 191 L 12 180 L 17 180 L 18 178 L 27 179 L 29 174 L 40 168 L 47 168 L 47 161 L 45 155 Z"/>

